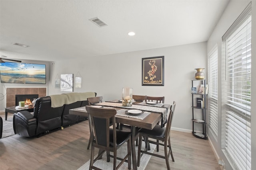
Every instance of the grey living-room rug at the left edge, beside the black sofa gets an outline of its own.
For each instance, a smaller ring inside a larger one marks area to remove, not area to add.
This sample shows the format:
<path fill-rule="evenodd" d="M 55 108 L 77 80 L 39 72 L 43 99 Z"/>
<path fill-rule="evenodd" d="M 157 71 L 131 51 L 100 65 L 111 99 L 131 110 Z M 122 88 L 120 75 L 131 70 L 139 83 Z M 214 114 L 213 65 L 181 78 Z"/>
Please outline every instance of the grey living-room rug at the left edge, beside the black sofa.
<path fill-rule="evenodd" d="M 15 134 L 14 134 L 14 131 L 13 131 L 13 125 L 12 125 L 12 118 L 13 118 L 13 115 L 12 115 L 12 114 L 8 114 L 7 120 L 5 120 L 5 116 L 4 116 L 4 115 L 1 115 L 1 117 L 2 117 L 2 119 L 3 119 L 3 133 L 2 133 L 2 138 L 15 135 Z"/>

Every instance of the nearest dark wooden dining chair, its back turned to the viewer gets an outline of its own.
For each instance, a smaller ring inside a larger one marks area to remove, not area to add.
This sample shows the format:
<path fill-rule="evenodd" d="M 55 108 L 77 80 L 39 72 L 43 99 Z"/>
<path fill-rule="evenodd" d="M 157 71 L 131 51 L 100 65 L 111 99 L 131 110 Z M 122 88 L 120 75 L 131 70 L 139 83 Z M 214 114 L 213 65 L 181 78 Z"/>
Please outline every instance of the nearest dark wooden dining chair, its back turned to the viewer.
<path fill-rule="evenodd" d="M 89 116 L 90 138 L 91 142 L 91 158 L 90 158 L 90 170 L 99 168 L 93 166 L 94 162 L 102 158 L 102 154 L 106 152 L 107 162 L 110 162 L 110 157 L 113 160 L 113 169 L 117 170 L 124 162 L 128 162 L 128 169 L 131 169 L 131 133 L 127 131 L 120 131 L 116 128 L 110 128 L 110 118 L 115 125 L 116 109 L 108 108 L 96 108 L 92 106 L 86 106 L 86 111 Z M 127 154 L 124 158 L 118 158 L 116 150 L 122 145 L 127 143 Z M 100 149 L 99 154 L 94 158 L 94 148 Z M 110 155 L 113 152 L 113 155 Z M 116 160 L 121 162 L 116 166 Z"/>

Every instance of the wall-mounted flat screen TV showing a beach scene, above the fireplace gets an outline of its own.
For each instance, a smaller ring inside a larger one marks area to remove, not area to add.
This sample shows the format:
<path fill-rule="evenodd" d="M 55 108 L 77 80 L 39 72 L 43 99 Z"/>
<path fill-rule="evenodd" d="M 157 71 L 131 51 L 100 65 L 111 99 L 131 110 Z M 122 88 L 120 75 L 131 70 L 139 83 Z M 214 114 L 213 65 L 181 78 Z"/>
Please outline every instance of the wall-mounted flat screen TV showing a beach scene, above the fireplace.
<path fill-rule="evenodd" d="M 0 63 L 1 83 L 46 84 L 45 64 Z"/>

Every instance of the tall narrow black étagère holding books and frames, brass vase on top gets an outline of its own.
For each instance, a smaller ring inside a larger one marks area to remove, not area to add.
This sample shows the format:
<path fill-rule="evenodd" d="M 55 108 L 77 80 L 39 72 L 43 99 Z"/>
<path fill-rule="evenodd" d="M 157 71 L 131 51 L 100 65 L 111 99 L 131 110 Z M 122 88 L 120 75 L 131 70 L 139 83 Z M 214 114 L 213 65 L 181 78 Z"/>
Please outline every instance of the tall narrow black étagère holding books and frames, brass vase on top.
<path fill-rule="evenodd" d="M 199 82 L 200 81 L 200 84 Z M 208 96 L 208 84 L 206 84 L 206 80 L 191 80 L 192 88 L 195 88 L 195 84 L 199 89 L 191 91 L 192 94 L 192 134 L 195 137 L 200 139 L 207 139 L 206 135 L 206 110 L 207 110 L 207 96 Z M 196 83 L 198 82 L 198 83 Z M 196 102 L 194 102 L 196 101 Z M 202 133 L 196 132 L 194 129 L 196 127 L 202 127 Z"/>

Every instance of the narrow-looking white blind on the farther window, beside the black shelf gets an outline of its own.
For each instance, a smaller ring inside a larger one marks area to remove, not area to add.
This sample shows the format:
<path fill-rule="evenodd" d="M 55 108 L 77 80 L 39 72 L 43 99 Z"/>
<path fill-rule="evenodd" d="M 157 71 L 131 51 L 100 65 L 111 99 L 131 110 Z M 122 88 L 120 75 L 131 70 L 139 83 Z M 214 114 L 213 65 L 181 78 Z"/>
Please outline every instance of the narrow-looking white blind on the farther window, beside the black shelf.
<path fill-rule="evenodd" d="M 208 127 L 218 137 L 218 48 L 209 53 Z"/>

